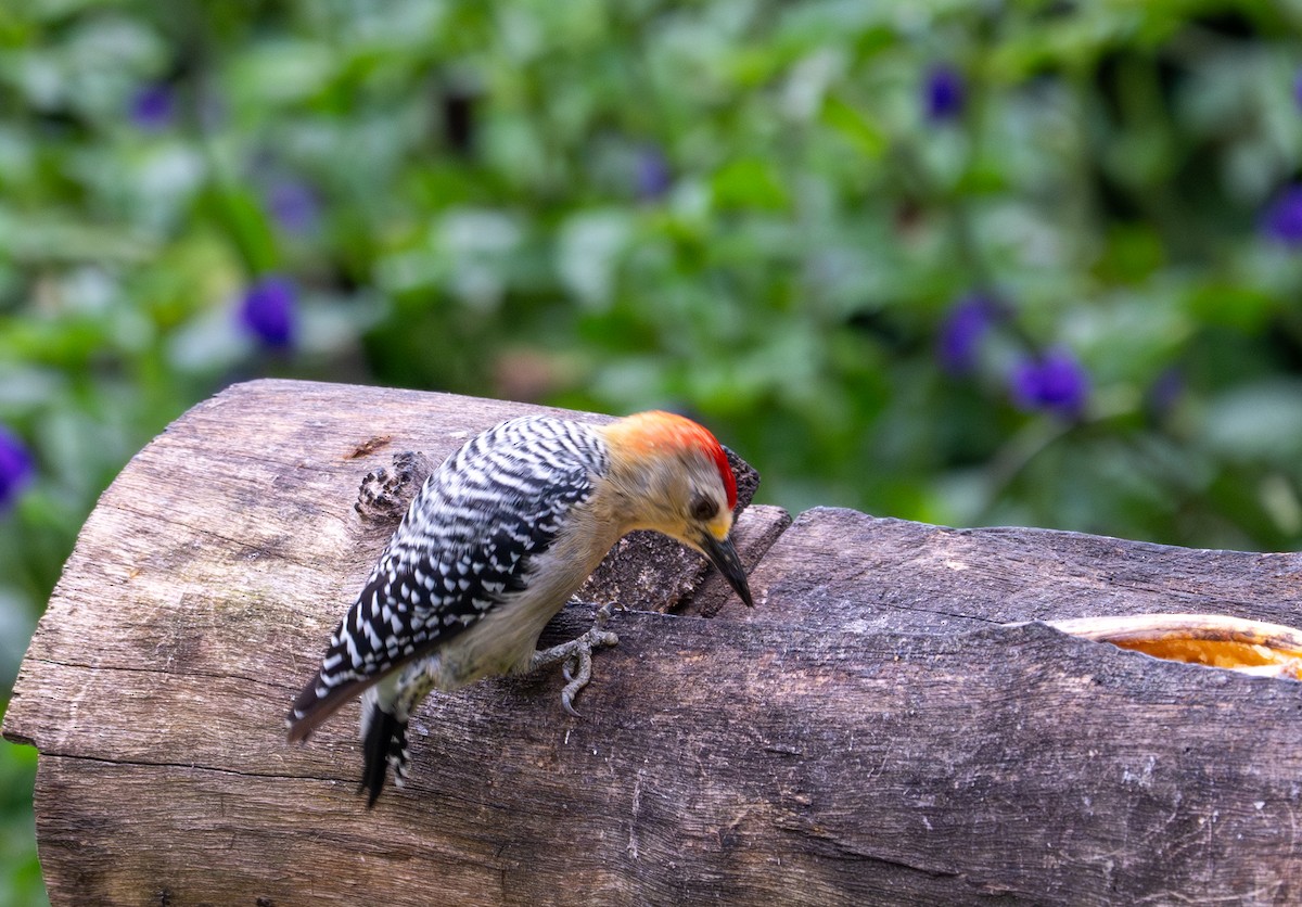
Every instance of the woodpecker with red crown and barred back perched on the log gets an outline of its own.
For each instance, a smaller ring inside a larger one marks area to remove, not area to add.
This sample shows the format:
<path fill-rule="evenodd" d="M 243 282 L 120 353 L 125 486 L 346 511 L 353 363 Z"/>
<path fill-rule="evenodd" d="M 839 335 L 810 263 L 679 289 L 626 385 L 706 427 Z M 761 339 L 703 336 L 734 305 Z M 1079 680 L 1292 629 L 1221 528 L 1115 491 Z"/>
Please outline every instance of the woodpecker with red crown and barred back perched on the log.
<path fill-rule="evenodd" d="M 289 712 L 289 740 L 362 695 L 362 790 L 408 773 L 408 720 L 431 690 L 557 662 L 561 704 L 613 645 L 609 608 L 578 639 L 538 636 L 620 537 L 655 530 L 703 553 L 753 606 L 730 532 L 737 481 L 715 436 L 669 413 L 607 426 L 533 415 L 466 442 L 430 475 Z"/>

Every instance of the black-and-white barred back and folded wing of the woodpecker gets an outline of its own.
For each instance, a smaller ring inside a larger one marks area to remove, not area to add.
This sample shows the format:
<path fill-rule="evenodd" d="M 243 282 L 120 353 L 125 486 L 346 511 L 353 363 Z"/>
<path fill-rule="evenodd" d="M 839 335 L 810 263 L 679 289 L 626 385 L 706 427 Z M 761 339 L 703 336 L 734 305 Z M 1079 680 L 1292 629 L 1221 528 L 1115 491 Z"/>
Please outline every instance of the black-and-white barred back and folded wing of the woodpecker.
<path fill-rule="evenodd" d="M 426 480 L 370 579 L 294 700 L 290 739 L 395 668 L 465 631 L 523 588 L 572 508 L 605 468 L 604 446 L 574 423 L 504 422 Z"/>

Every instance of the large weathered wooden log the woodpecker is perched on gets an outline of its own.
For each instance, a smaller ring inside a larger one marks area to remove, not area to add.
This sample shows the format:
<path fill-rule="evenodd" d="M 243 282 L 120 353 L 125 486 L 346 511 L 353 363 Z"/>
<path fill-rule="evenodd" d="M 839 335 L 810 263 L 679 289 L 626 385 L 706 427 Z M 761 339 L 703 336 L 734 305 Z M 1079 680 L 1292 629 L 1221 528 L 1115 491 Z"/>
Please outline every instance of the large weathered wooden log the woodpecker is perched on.
<path fill-rule="evenodd" d="M 1003 626 L 1297 626 L 1302 558 L 848 510 L 742 514 L 754 610 L 699 561 L 648 588 L 633 545 L 586 720 L 555 674 L 436 695 L 367 812 L 355 705 L 284 742 L 391 528 L 358 483 L 529 409 L 256 381 L 132 461 L 5 718 L 53 903 L 1302 899 L 1302 686 Z"/>

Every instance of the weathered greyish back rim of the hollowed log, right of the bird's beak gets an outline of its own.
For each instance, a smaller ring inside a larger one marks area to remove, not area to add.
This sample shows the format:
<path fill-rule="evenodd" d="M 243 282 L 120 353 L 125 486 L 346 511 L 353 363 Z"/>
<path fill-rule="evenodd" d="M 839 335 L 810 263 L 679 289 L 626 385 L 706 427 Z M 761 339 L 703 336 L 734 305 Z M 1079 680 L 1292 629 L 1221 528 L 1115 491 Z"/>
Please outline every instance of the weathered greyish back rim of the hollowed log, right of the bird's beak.
<path fill-rule="evenodd" d="M 730 617 L 819 619 L 858 630 L 960 632 L 991 623 L 1142 613 L 1220 613 L 1297 626 L 1302 556 L 1199 550 L 1079 532 L 953 530 L 837 508 L 801 514 L 750 578 L 756 606 Z"/>

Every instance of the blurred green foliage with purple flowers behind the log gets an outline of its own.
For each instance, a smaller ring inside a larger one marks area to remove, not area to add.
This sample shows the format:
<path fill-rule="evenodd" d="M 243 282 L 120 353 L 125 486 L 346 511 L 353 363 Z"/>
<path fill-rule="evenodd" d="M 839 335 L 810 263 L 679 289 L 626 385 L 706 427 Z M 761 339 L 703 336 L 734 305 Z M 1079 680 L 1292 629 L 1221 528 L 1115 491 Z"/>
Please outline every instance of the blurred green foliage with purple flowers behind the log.
<path fill-rule="evenodd" d="M 0 424 L 36 463 L 0 690 L 98 493 L 264 373 L 685 410 L 792 510 L 1297 547 L 1299 30 L 1297 0 L 0 8 Z M 34 761 L 0 744 L 0 903 L 43 897 Z"/>

